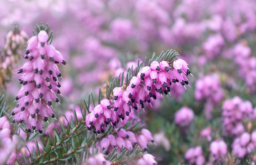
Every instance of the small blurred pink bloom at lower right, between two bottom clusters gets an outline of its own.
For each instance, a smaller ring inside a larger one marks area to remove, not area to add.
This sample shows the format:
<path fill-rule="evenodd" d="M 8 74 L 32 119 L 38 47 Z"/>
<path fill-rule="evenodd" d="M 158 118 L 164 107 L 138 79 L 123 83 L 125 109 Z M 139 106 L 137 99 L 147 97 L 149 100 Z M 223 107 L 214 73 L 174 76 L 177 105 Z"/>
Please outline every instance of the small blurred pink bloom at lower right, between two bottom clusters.
<path fill-rule="evenodd" d="M 219 160 L 228 152 L 228 146 L 223 140 L 215 140 L 210 145 L 210 151 L 214 159 Z"/>

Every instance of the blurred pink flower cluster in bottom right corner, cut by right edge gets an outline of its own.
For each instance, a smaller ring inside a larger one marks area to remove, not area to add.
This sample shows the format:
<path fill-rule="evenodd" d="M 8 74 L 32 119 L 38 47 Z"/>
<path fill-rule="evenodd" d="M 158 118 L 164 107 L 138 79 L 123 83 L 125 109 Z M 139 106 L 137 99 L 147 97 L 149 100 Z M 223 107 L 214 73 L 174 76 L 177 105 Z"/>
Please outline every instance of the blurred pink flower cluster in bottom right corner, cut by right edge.
<path fill-rule="evenodd" d="M 252 153 L 256 147 L 256 131 L 251 134 L 244 132 L 241 136 L 234 139 L 232 152 L 238 158 L 244 158 L 248 153 Z"/>

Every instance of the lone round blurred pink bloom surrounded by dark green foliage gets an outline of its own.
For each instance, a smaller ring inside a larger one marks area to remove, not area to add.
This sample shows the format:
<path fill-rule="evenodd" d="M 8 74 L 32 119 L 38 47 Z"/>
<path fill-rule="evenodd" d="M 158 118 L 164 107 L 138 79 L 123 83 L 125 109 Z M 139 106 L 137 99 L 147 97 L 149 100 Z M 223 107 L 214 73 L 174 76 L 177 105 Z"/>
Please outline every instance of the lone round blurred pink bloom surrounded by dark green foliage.
<path fill-rule="evenodd" d="M 193 121 L 193 118 L 194 118 L 193 110 L 184 106 L 184 107 L 181 107 L 175 113 L 174 122 L 180 127 L 188 127 L 190 123 Z"/>

